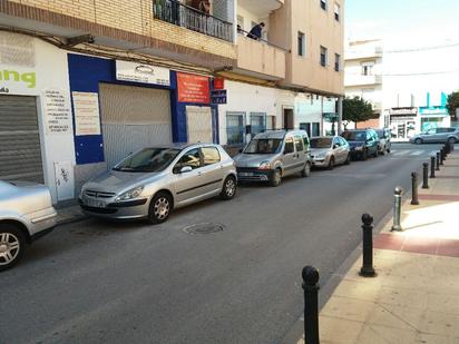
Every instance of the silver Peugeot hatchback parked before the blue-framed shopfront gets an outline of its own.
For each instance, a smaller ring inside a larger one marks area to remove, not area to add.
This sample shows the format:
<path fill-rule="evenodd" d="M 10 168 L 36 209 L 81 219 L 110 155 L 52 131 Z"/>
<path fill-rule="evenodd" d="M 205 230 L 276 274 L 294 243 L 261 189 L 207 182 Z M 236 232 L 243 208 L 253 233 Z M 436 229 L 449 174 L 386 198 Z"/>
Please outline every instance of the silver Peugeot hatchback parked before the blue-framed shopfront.
<path fill-rule="evenodd" d="M 173 208 L 236 193 L 236 168 L 213 144 L 141 149 L 87 181 L 79 204 L 92 216 L 163 223 Z"/>

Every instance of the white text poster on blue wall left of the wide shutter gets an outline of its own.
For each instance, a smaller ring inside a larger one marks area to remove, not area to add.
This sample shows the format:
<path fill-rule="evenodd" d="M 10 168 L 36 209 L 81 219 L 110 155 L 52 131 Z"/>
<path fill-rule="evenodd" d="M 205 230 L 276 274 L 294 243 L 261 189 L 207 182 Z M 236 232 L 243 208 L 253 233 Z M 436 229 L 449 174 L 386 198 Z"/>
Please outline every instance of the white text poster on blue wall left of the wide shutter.
<path fill-rule="evenodd" d="M 64 90 L 43 91 L 45 127 L 48 135 L 69 134 L 71 130 L 70 104 Z"/>

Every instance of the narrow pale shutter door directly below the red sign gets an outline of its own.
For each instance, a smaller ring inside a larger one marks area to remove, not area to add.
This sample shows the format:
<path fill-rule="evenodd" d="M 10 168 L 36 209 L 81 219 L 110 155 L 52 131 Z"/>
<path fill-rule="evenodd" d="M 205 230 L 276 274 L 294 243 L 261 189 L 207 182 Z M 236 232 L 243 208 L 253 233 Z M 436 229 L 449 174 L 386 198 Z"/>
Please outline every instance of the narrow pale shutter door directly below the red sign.
<path fill-rule="evenodd" d="M 212 108 L 187 106 L 188 142 L 212 142 Z"/>

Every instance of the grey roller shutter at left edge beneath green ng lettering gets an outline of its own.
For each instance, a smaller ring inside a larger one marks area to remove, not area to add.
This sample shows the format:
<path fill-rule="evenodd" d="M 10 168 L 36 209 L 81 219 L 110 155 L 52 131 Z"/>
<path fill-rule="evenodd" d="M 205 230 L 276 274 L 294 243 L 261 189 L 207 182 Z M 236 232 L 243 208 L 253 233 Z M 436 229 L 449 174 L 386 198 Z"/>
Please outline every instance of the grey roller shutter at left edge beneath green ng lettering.
<path fill-rule="evenodd" d="M 0 179 L 43 183 L 35 97 L 0 96 Z"/>

